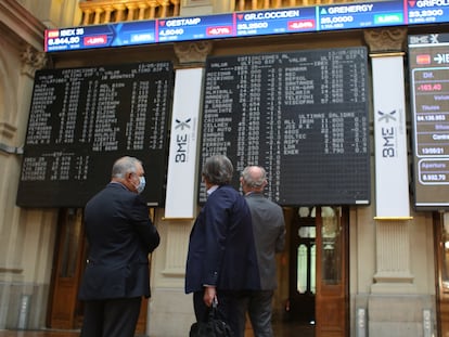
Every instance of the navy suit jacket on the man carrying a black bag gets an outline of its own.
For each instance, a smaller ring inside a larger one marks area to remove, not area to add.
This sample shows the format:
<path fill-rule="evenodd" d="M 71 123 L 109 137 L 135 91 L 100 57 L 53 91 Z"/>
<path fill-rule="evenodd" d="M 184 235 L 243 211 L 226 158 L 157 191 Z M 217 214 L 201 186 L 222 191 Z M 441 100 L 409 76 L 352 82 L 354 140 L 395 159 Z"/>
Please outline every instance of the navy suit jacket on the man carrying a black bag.
<path fill-rule="evenodd" d="M 230 185 L 207 198 L 190 234 L 185 293 L 200 291 L 204 285 L 260 289 L 251 212 Z"/>

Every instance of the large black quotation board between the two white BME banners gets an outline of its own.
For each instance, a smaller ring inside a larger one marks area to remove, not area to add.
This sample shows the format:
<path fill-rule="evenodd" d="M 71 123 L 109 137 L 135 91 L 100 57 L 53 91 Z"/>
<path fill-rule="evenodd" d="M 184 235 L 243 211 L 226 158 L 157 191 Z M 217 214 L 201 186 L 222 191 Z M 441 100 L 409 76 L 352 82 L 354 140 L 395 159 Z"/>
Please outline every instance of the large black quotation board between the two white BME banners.
<path fill-rule="evenodd" d="M 201 163 L 260 165 L 281 205 L 370 203 L 365 48 L 207 60 Z M 200 200 L 205 202 L 204 186 Z"/>

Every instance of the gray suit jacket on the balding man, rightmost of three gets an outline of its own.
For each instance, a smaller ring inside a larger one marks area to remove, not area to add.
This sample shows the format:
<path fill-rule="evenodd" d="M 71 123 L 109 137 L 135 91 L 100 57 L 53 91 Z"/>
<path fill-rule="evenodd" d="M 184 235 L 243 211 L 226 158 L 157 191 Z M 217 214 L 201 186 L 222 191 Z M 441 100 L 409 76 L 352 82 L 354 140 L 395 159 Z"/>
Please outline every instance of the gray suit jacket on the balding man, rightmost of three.
<path fill-rule="evenodd" d="M 285 246 L 285 222 L 282 208 L 261 193 L 245 196 L 252 219 L 262 290 L 275 289 L 275 254 Z"/>

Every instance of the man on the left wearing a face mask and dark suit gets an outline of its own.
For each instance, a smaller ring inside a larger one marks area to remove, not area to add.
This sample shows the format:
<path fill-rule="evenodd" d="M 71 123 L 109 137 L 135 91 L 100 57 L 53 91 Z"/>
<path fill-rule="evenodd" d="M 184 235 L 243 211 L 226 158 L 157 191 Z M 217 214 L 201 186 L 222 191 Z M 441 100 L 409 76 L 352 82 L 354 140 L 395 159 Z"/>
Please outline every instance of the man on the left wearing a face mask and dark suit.
<path fill-rule="evenodd" d="M 149 254 L 161 239 L 139 196 L 144 186 L 142 163 L 121 157 L 113 166 L 111 182 L 86 205 L 82 337 L 134 335 L 142 296 L 150 297 Z"/>

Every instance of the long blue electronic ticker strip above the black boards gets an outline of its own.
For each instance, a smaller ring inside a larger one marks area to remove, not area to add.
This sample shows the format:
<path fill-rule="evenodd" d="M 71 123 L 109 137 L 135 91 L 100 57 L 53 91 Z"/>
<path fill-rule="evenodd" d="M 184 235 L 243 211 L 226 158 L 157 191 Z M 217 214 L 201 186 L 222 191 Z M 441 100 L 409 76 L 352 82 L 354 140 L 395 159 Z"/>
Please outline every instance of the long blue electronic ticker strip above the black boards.
<path fill-rule="evenodd" d="M 48 29 L 47 52 L 449 22 L 449 0 L 350 2 Z"/>

